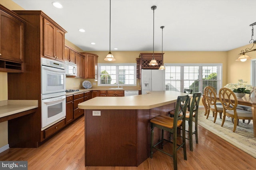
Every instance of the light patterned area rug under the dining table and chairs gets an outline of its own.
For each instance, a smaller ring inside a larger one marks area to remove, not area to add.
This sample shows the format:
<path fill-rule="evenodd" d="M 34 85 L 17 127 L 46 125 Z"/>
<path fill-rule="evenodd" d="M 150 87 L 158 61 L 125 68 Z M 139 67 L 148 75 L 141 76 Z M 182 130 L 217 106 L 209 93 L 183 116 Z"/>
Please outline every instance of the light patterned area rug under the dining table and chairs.
<path fill-rule="evenodd" d="M 213 123 L 212 112 L 210 112 L 208 119 L 206 119 L 204 113 L 204 110 L 198 111 L 198 125 L 256 158 L 256 137 L 253 137 L 252 120 L 249 124 L 246 124 L 248 120 L 246 120 L 246 123 L 239 120 L 236 132 L 233 132 L 234 124 L 230 117 L 226 117 L 225 123 L 221 127 L 222 119 L 220 119 L 219 114 L 216 122 Z"/>

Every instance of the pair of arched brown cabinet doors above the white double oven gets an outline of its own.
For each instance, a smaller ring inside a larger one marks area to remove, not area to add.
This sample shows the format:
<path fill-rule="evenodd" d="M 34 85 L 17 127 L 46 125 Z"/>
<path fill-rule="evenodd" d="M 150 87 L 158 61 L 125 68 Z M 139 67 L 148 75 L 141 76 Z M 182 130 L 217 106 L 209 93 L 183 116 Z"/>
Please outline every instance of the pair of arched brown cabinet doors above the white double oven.
<path fill-rule="evenodd" d="M 44 56 L 64 61 L 65 33 L 46 18 L 43 24 Z"/>

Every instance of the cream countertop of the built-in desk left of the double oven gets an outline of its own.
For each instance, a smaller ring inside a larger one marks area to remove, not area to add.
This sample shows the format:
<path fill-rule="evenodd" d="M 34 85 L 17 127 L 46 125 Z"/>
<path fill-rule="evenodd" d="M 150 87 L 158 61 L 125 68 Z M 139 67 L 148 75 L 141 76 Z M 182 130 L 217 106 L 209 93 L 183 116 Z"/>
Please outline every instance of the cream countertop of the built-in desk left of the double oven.
<path fill-rule="evenodd" d="M 4 100 L 0 101 L 0 117 L 13 115 L 38 107 L 38 100 Z"/>

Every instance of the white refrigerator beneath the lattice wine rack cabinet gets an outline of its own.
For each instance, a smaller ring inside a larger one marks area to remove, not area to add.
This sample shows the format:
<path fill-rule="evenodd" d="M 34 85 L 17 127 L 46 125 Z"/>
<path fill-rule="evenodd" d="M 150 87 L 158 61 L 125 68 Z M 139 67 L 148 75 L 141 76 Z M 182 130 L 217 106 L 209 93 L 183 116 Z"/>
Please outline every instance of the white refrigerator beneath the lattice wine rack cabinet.
<path fill-rule="evenodd" d="M 150 91 L 163 91 L 164 89 L 164 70 L 141 70 L 141 94 Z"/>

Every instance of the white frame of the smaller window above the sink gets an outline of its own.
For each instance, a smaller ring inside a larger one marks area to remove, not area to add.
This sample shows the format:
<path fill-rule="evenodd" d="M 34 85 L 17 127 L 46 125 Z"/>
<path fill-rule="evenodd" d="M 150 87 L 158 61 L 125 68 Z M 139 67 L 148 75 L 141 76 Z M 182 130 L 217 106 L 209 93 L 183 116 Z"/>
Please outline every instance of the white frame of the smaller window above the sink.
<path fill-rule="evenodd" d="M 118 84 L 100 84 L 100 68 L 101 66 L 116 66 L 116 81 L 118 82 L 119 66 L 134 66 L 134 84 L 119 84 L 119 86 L 137 86 L 136 63 L 98 63 L 98 86 L 118 86 Z"/>

